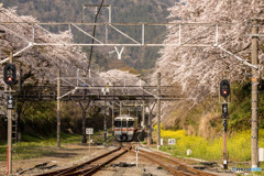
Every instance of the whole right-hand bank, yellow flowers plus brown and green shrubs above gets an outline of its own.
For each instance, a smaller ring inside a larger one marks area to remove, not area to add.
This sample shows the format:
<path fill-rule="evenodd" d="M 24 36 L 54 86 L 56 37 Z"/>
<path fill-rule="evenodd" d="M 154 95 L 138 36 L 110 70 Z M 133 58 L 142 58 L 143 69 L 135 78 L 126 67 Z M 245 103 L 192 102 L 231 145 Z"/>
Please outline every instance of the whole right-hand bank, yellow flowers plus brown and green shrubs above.
<path fill-rule="evenodd" d="M 264 81 L 263 81 L 264 82 Z M 264 85 L 262 84 L 258 94 L 258 118 L 260 118 L 260 141 L 258 146 L 264 147 Z M 229 161 L 248 162 L 251 160 L 251 84 L 232 85 L 232 99 L 229 103 L 228 139 L 227 148 Z M 221 105 L 218 99 L 206 99 L 190 110 L 176 111 L 172 113 L 179 117 L 173 129 L 177 131 L 163 131 L 162 138 L 167 144 L 167 139 L 176 139 L 175 146 L 164 145 L 163 151 L 174 155 L 187 156 L 186 151 L 190 148 L 190 157 L 206 161 L 222 161 L 222 119 Z M 183 113 L 182 113 L 183 112 Z M 185 113 L 184 113 L 185 112 Z M 206 119 L 206 120 L 205 120 Z M 179 129 L 193 129 L 187 131 Z M 201 131 L 200 131 L 201 130 Z M 194 135 L 187 135 L 194 134 Z M 202 136 L 205 138 L 202 138 Z M 173 150 L 172 150 L 173 147 Z"/>

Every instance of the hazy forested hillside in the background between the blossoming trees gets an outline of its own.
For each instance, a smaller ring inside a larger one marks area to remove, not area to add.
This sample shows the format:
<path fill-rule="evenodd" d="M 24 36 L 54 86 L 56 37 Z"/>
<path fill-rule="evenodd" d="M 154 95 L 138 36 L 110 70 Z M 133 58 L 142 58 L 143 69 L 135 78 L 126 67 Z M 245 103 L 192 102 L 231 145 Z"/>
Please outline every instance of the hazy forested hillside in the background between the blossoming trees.
<path fill-rule="evenodd" d="M 19 14 L 33 15 L 42 22 L 80 22 L 81 4 L 99 4 L 100 2 L 100 0 L 2 0 L 3 7 L 18 7 Z M 105 0 L 105 4 L 112 6 L 112 22 L 124 23 L 167 22 L 166 18 L 169 14 L 167 9 L 175 2 L 174 0 Z M 94 9 L 85 10 L 84 22 L 94 22 Z M 107 19 L 108 11 L 102 9 L 98 22 L 107 22 Z M 163 32 L 163 29 L 156 32 L 146 29 L 150 38 L 160 43 L 165 38 Z M 133 33 L 141 33 L 141 31 L 135 30 Z M 75 40 L 80 41 L 81 36 L 75 36 Z M 85 47 L 84 51 L 89 54 L 90 48 Z M 113 48 L 109 48 L 108 52 L 110 51 Z M 156 47 L 125 47 L 122 55 L 123 61 L 118 62 L 116 61 L 117 54 L 108 55 L 108 52 L 97 47 L 92 64 L 103 69 L 133 67 L 141 70 L 152 68 L 158 57 Z M 114 64 L 111 64 L 112 62 Z"/>

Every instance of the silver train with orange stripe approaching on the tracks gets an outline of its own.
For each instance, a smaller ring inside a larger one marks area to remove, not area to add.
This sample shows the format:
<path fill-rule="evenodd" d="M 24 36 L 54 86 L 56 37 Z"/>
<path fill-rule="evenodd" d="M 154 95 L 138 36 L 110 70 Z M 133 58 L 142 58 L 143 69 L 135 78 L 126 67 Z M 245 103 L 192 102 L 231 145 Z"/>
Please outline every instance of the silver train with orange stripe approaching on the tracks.
<path fill-rule="evenodd" d="M 138 118 L 121 114 L 114 118 L 114 136 L 118 141 L 132 141 L 138 130 Z"/>

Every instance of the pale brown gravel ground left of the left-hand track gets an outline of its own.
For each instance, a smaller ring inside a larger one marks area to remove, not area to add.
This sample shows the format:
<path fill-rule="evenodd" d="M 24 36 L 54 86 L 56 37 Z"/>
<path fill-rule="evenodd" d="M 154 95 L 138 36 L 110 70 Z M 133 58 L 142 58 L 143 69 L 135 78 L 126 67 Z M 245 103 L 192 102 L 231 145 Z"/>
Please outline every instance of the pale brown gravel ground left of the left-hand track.
<path fill-rule="evenodd" d="M 101 155 L 114 147 L 105 147 L 105 146 L 91 146 L 90 157 Z M 42 156 L 40 158 L 30 158 L 30 160 L 20 160 L 13 161 L 13 174 L 21 173 L 24 169 L 33 168 L 35 165 L 48 163 L 47 165 L 57 165 L 51 169 L 40 169 L 34 168 L 32 170 L 25 172 L 23 175 L 34 175 L 36 173 L 44 173 L 48 170 L 59 169 L 63 167 L 72 166 L 74 164 L 82 163 L 89 160 L 89 146 L 82 144 L 65 144 L 62 148 L 51 147 L 48 150 L 53 151 L 53 155 Z M 13 154 L 14 155 L 14 154 Z M 20 170 L 20 172 L 19 172 Z M 0 162 L 0 175 L 7 173 L 7 162 Z"/>

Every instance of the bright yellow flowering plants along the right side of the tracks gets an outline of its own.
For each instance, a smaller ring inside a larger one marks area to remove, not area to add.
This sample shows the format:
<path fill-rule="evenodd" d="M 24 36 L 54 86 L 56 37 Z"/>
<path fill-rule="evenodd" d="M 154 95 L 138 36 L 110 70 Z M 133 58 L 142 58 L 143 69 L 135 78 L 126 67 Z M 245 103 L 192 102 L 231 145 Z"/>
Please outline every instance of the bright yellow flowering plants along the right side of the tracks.
<path fill-rule="evenodd" d="M 201 136 L 187 135 L 184 130 L 161 131 L 164 144 L 161 150 L 175 156 L 196 157 L 206 161 L 222 161 L 222 138 L 206 140 Z M 168 139 L 176 139 L 176 145 L 167 145 Z M 260 147 L 264 147 L 264 130 L 260 130 Z M 191 155 L 187 156 L 187 150 Z M 227 148 L 229 161 L 248 162 L 251 160 L 251 131 L 237 132 L 228 136 Z"/>

